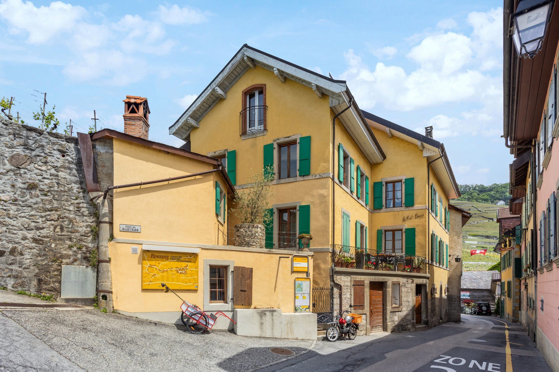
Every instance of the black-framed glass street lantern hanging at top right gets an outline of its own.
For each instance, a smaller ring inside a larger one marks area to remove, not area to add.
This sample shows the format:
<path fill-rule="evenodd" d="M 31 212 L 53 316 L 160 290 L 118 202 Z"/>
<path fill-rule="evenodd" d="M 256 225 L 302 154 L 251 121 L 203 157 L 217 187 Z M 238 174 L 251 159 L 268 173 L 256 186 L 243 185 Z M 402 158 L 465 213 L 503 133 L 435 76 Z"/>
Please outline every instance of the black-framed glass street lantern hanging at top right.
<path fill-rule="evenodd" d="M 520 0 L 512 15 L 513 41 L 517 53 L 533 58 L 542 49 L 553 0 Z"/>

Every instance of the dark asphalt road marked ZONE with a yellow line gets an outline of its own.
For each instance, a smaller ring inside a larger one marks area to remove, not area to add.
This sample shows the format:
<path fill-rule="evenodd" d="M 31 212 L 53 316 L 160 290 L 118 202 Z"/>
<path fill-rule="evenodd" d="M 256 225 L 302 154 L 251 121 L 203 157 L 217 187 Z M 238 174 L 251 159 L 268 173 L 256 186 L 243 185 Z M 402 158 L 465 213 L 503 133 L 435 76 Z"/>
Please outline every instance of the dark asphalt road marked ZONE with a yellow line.
<path fill-rule="evenodd" d="M 462 315 L 427 331 L 319 341 L 306 354 L 258 372 L 551 372 L 522 327 L 496 317 Z M 509 334 L 507 366 L 506 331 Z"/>

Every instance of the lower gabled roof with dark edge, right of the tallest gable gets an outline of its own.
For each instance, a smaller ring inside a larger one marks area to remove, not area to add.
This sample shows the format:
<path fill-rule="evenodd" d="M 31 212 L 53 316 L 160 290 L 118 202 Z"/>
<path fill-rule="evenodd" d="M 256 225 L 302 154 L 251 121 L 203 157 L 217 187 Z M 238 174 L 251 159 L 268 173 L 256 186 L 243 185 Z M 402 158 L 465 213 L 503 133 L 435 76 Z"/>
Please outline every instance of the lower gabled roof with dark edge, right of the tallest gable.
<path fill-rule="evenodd" d="M 423 136 L 411 129 L 402 127 L 396 123 L 392 123 L 389 120 L 378 117 L 377 115 L 368 113 L 361 110 L 364 117 L 368 120 L 371 127 L 379 129 L 382 132 L 390 131 L 393 136 L 404 139 L 418 146 L 421 151 L 423 151 L 423 156 L 427 157 L 429 161 L 435 160 L 438 157 L 442 157 L 442 161 L 435 161 L 431 163 L 433 170 L 437 174 L 440 183 L 444 187 L 444 191 L 448 195 L 449 199 L 456 199 L 460 197 L 460 191 L 458 190 L 458 183 L 452 172 L 451 163 L 448 160 L 447 152 L 444 151 L 444 144 L 435 139 Z"/>

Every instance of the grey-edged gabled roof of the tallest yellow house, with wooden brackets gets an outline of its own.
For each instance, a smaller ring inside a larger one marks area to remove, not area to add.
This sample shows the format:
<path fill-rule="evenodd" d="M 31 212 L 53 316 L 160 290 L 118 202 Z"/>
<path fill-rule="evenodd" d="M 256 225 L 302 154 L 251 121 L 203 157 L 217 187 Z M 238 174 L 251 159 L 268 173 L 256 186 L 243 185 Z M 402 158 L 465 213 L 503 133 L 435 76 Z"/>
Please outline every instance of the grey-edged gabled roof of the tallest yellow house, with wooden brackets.
<path fill-rule="evenodd" d="M 283 79 L 290 79 L 305 85 L 315 90 L 317 95 L 328 95 L 330 108 L 335 114 L 342 112 L 350 102 L 353 102 L 350 109 L 340 115 L 338 119 L 369 162 L 380 163 L 385 159 L 382 148 L 368 127 L 357 103 L 352 100 L 353 96 L 344 80 L 335 80 L 315 73 L 315 71 L 305 69 L 247 44 L 236 52 L 190 107 L 169 127 L 169 134 L 185 139 L 193 128 L 200 125 L 202 118 L 220 99 L 226 99 L 226 93 L 240 76 L 255 66 L 273 71 L 274 74 Z"/>

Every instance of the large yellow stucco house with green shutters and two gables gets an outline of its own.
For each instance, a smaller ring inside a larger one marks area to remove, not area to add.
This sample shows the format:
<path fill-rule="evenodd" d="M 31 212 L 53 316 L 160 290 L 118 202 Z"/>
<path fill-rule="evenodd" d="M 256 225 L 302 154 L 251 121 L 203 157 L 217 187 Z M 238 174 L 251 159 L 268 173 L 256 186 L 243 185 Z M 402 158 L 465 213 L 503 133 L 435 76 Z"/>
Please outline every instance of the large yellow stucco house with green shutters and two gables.
<path fill-rule="evenodd" d="M 297 250 L 312 235 L 313 290 L 333 288 L 313 297 L 319 318 L 353 305 L 366 332 L 447 321 L 459 191 L 430 132 L 364 112 L 345 81 L 244 45 L 169 133 L 219 160 L 239 192 L 251 172 L 273 170 L 263 248 Z M 237 223 L 224 226 L 228 244 Z"/>

